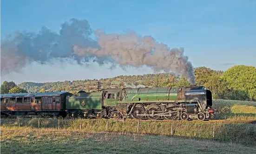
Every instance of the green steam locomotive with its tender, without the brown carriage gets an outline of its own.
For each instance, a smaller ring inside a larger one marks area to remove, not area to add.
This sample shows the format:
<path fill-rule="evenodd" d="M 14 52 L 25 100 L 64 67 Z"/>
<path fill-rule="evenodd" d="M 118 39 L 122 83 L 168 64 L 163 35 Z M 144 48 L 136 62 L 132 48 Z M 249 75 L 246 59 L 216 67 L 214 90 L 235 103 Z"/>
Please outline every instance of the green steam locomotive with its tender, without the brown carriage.
<path fill-rule="evenodd" d="M 69 117 L 207 120 L 214 117 L 212 95 L 204 86 L 143 87 L 79 91 L 66 97 Z"/>

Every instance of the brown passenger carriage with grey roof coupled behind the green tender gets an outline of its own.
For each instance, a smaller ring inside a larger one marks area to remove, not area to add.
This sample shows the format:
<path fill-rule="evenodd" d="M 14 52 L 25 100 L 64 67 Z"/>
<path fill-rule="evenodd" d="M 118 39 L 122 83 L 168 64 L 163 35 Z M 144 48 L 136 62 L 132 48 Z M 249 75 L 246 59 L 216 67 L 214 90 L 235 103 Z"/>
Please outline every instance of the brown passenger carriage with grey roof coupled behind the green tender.
<path fill-rule="evenodd" d="M 1 116 L 66 117 L 66 96 L 69 92 L 31 92 L 0 95 Z"/>

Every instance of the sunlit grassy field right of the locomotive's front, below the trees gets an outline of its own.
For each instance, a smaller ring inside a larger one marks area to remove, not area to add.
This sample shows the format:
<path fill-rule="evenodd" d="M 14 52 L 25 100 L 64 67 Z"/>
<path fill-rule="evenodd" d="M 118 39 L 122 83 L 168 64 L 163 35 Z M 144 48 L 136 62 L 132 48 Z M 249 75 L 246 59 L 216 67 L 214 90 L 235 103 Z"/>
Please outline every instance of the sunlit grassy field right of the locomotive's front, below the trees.
<path fill-rule="evenodd" d="M 256 120 L 256 102 L 215 99 L 213 108 L 218 110 L 216 119 Z"/>

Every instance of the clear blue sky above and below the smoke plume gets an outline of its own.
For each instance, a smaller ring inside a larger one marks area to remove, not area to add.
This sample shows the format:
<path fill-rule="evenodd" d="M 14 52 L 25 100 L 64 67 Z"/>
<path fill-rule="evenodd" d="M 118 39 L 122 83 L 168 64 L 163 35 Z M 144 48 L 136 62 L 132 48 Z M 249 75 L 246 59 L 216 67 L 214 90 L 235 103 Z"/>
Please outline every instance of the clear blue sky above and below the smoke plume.
<path fill-rule="evenodd" d="M 15 31 L 38 33 L 42 26 L 59 32 L 71 18 L 86 19 L 93 30 L 135 31 L 170 48 L 184 48 L 193 67 L 227 70 L 256 67 L 255 0 L 1 0 L 1 43 Z M 54 82 L 155 73 L 151 68 L 33 62 L 0 81 Z"/>

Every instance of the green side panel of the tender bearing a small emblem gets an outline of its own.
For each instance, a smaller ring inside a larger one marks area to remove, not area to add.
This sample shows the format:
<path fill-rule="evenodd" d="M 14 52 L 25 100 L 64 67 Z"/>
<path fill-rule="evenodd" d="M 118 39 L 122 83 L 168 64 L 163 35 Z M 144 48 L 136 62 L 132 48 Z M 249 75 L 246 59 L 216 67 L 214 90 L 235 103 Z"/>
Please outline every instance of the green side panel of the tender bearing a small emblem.
<path fill-rule="evenodd" d="M 101 109 L 102 92 L 83 92 L 66 98 L 66 109 Z M 85 105 L 82 102 L 85 102 Z"/>

